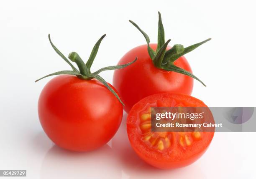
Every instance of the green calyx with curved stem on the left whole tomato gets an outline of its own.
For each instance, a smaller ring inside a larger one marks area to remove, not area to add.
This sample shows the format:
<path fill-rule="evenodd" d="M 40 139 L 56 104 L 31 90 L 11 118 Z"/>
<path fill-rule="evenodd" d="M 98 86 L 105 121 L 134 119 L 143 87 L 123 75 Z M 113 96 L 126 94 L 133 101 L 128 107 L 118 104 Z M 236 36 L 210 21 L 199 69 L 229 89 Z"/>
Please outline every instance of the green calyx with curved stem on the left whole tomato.
<path fill-rule="evenodd" d="M 87 61 L 87 63 L 84 63 L 84 61 L 82 60 L 82 58 L 76 53 L 76 52 L 71 52 L 69 53 L 69 59 L 70 61 L 74 62 L 77 64 L 78 69 L 76 67 L 73 66 L 73 64 L 54 46 L 54 44 L 51 42 L 51 38 L 50 38 L 50 34 L 48 35 L 49 41 L 51 43 L 51 46 L 54 48 L 54 50 L 56 51 L 56 53 L 58 55 L 61 56 L 61 58 L 64 59 L 64 61 L 66 61 L 69 66 L 71 66 L 72 71 L 58 71 L 55 73 L 51 73 L 49 75 L 46 75 L 42 78 L 39 78 L 38 80 L 36 80 L 35 82 L 49 77 L 49 76 L 54 76 L 54 75 L 63 75 L 63 74 L 68 74 L 68 75 L 75 75 L 78 78 L 82 79 L 82 80 L 91 80 L 92 78 L 97 79 L 98 81 L 100 81 L 104 86 L 106 86 L 108 88 L 108 90 L 110 90 L 120 101 L 120 103 L 123 104 L 123 102 L 121 101 L 121 99 L 119 98 L 118 94 L 115 93 L 115 91 L 108 85 L 108 83 L 99 75 L 100 72 L 102 71 L 106 71 L 106 70 L 115 70 L 115 69 L 120 69 L 120 68 L 125 68 L 126 66 L 131 65 L 132 63 L 134 63 L 137 60 L 137 57 L 135 58 L 134 61 L 127 63 L 125 65 L 118 65 L 118 66 L 108 66 L 105 68 L 100 68 L 99 70 L 95 71 L 94 73 L 91 73 L 91 66 L 92 63 L 97 55 L 100 43 L 102 41 L 102 39 L 106 36 L 106 34 L 102 35 L 102 37 L 97 41 L 97 43 L 94 45 L 94 47 L 92 48 L 92 52 L 91 55 Z"/>

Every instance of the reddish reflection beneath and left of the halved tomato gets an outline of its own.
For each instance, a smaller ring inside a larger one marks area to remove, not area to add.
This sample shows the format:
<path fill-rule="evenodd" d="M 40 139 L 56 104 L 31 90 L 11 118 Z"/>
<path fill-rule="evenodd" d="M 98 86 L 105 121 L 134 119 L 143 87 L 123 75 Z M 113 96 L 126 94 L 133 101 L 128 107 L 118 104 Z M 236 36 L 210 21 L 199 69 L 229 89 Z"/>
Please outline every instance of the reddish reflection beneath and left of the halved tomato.
<path fill-rule="evenodd" d="M 200 166 L 196 165 L 197 162 L 180 169 L 162 170 L 141 160 L 129 142 L 126 131 L 126 118 L 127 114 L 124 113 L 120 128 L 113 137 L 111 144 L 113 151 L 118 156 L 124 173 L 130 179 L 157 179 L 159 177 L 193 178 L 193 176 L 197 179 L 207 178 L 200 169 Z"/>

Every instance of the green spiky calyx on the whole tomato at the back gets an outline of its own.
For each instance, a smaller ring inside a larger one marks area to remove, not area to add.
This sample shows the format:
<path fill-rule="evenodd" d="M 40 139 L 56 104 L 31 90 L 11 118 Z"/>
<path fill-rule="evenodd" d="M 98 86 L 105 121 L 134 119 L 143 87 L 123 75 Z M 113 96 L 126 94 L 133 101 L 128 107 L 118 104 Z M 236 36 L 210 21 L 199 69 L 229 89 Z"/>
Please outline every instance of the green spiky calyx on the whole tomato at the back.
<path fill-rule="evenodd" d="M 166 50 L 168 43 L 171 41 L 170 39 L 165 42 L 164 39 L 164 26 L 161 19 L 161 14 L 158 12 L 159 20 L 158 20 L 158 40 L 157 40 L 157 48 L 156 50 L 153 50 L 149 43 L 150 39 L 148 35 L 139 28 L 139 26 L 134 23 L 133 21 L 129 20 L 130 23 L 132 23 L 144 36 L 146 39 L 146 42 L 148 44 L 148 54 L 150 58 L 152 59 L 154 66 L 157 68 L 164 69 L 166 71 L 174 71 L 177 73 L 182 73 L 184 75 L 190 76 L 192 78 L 195 78 L 196 80 L 200 81 L 205 86 L 205 83 L 203 83 L 199 78 L 197 78 L 195 75 L 190 73 L 189 71 L 186 71 L 182 68 L 179 68 L 174 65 L 174 61 L 176 61 L 179 57 L 182 55 L 185 55 L 195 48 L 199 47 L 200 45 L 206 43 L 207 41 L 211 40 L 211 38 L 208 38 L 207 40 L 204 40 L 200 43 L 196 43 L 194 45 L 190 45 L 186 48 L 184 48 L 183 45 L 175 44 L 171 49 Z"/>

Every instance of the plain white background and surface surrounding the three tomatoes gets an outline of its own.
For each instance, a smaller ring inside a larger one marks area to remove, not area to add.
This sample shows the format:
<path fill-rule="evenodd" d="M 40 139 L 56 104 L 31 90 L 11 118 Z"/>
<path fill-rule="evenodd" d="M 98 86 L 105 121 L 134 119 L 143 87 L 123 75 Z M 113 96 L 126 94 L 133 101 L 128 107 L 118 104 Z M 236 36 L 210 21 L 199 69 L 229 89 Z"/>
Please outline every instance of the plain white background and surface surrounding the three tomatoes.
<path fill-rule="evenodd" d="M 192 96 L 208 106 L 256 106 L 256 4 L 253 0 L 35 1 L 0 2 L 0 170 L 27 170 L 27 178 L 197 178 L 255 179 L 256 133 L 216 133 L 201 159 L 182 169 L 163 171 L 141 161 L 130 147 L 125 117 L 108 145 L 89 153 L 64 151 L 44 134 L 37 115 L 38 96 L 50 78 L 70 70 L 51 48 L 47 35 L 68 55 L 87 59 L 102 41 L 93 70 L 115 65 L 145 39 L 131 19 L 157 38 L 157 11 L 166 39 L 192 45 L 210 42 L 186 55 L 195 81 Z M 102 73 L 112 82 L 113 71 Z"/>

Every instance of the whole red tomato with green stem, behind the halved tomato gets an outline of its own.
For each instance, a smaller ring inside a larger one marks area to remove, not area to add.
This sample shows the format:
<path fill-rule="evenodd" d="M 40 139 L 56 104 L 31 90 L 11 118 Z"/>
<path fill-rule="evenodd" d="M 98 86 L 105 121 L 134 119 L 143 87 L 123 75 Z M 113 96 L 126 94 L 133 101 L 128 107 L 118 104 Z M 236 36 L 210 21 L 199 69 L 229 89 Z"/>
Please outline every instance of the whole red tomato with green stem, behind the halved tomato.
<path fill-rule="evenodd" d="M 148 35 L 136 23 L 131 20 L 130 22 L 143 34 L 147 44 L 128 51 L 118 65 L 131 62 L 138 57 L 136 63 L 124 70 L 115 70 L 113 86 L 125 104 L 124 110 L 129 112 L 135 103 L 151 94 L 170 92 L 190 95 L 193 89 L 193 78 L 200 80 L 192 74 L 189 63 L 183 55 L 210 39 L 187 48 L 179 44 L 169 47 L 170 40 L 166 42 L 164 40 L 164 28 L 159 13 L 158 43 L 152 44 Z"/>

